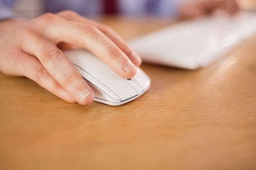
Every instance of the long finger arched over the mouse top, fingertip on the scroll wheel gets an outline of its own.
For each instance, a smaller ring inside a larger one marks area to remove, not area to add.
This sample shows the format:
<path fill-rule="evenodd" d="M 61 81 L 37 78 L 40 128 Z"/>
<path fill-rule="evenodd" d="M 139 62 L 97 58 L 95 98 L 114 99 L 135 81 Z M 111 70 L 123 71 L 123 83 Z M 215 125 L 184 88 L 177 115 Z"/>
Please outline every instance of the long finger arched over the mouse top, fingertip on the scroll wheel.
<path fill-rule="evenodd" d="M 55 44 L 66 42 L 88 49 L 124 78 L 132 78 L 137 72 L 129 57 L 96 26 L 65 20 L 52 14 L 43 16 L 37 26 Z"/>

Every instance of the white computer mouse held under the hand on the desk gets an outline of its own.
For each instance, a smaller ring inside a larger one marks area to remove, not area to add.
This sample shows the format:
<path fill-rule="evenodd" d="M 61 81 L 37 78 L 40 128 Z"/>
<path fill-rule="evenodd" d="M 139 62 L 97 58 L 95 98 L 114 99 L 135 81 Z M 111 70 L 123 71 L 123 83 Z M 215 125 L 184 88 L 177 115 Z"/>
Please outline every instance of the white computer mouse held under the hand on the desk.
<path fill-rule="evenodd" d="M 119 106 L 136 99 L 150 87 L 150 78 L 140 68 L 133 78 L 125 79 L 87 50 L 63 52 L 94 91 L 94 101 Z"/>

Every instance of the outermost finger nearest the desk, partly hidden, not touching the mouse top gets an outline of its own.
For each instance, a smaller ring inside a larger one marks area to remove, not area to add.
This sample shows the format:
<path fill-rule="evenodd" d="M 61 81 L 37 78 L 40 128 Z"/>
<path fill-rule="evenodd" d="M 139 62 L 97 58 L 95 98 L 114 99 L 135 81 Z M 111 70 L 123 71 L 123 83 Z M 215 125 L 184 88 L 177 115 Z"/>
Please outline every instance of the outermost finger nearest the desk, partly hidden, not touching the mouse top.
<path fill-rule="evenodd" d="M 51 75 L 49 75 L 38 59 L 27 54 L 20 55 L 19 57 L 21 59 L 19 60 L 19 65 L 17 67 L 23 76 L 33 80 L 67 102 L 76 102 L 74 97 L 72 97 Z"/>

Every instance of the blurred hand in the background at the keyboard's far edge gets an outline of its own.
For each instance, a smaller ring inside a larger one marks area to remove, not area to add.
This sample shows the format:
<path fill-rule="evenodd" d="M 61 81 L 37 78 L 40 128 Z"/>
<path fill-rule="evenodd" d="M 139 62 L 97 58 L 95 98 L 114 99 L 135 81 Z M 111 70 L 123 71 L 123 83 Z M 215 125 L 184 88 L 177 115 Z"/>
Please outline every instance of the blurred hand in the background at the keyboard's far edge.
<path fill-rule="evenodd" d="M 183 18 L 197 18 L 224 10 L 229 15 L 239 11 L 236 0 L 188 0 L 181 4 L 180 15 Z"/>

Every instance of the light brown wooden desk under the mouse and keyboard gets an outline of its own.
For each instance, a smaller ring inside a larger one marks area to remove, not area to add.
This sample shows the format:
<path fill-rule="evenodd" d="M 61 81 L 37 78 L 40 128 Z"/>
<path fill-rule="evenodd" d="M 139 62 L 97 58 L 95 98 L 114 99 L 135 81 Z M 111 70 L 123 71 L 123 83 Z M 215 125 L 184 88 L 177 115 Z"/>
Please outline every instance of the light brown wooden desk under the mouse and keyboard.
<path fill-rule="evenodd" d="M 103 22 L 126 40 L 169 24 Z M 256 169 L 256 37 L 196 71 L 141 68 L 150 89 L 116 107 L 67 103 L 0 74 L 0 169 Z"/>

